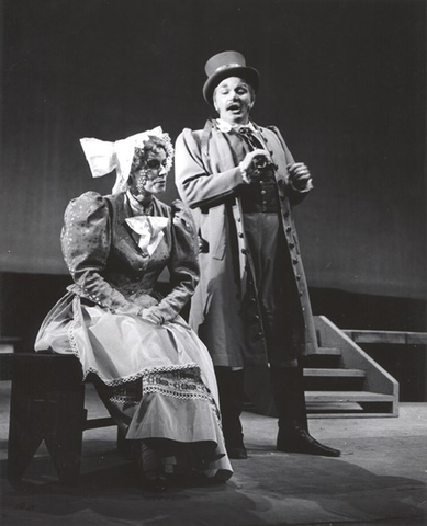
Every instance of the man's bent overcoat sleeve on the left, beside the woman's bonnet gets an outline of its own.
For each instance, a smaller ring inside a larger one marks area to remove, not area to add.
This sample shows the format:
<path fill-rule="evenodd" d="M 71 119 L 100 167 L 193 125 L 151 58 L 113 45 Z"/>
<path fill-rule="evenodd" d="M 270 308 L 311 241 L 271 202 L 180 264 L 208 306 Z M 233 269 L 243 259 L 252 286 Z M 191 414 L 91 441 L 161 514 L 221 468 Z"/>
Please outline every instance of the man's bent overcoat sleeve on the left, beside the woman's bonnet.
<path fill-rule="evenodd" d="M 176 144 L 175 174 L 178 192 L 190 208 L 216 206 L 245 184 L 239 167 L 210 173 L 201 150 L 200 134 L 183 129 Z"/>

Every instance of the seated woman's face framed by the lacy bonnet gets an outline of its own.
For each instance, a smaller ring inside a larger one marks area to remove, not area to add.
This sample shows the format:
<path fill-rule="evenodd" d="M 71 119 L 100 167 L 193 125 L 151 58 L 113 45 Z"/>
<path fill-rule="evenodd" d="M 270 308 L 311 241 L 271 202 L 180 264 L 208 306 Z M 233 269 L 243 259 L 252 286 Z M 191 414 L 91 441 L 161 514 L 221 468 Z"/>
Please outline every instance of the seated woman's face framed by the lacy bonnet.
<path fill-rule="evenodd" d="M 130 188 L 134 195 L 160 194 L 166 190 L 166 152 L 158 147 L 148 150 L 142 167 L 132 172 Z"/>

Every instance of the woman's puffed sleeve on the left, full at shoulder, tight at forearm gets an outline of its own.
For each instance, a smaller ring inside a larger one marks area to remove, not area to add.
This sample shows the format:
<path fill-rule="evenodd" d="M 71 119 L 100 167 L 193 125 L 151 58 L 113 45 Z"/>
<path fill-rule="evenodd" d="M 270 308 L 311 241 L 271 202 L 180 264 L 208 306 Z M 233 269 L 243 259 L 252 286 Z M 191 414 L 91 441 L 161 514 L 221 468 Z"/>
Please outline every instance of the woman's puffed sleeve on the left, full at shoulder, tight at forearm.
<path fill-rule="evenodd" d="M 87 192 L 69 203 L 60 240 L 65 262 L 77 285 L 71 286 L 74 291 L 115 312 L 139 312 L 139 307 L 102 277 L 110 252 L 111 226 L 108 203 L 100 194 Z"/>

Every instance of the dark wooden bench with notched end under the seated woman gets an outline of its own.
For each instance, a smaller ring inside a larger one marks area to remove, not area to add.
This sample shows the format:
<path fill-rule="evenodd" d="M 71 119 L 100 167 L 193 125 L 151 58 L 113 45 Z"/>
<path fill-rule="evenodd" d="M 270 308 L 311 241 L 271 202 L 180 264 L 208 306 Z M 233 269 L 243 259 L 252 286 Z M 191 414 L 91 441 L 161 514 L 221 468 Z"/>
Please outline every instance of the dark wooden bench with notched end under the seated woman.
<path fill-rule="evenodd" d="M 45 441 L 59 481 L 76 484 L 83 431 L 115 425 L 113 419 L 88 420 L 81 365 L 74 355 L 14 353 L 11 366 L 8 479 L 21 480 Z M 124 454 L 125 442 L 117 427 Z"/>

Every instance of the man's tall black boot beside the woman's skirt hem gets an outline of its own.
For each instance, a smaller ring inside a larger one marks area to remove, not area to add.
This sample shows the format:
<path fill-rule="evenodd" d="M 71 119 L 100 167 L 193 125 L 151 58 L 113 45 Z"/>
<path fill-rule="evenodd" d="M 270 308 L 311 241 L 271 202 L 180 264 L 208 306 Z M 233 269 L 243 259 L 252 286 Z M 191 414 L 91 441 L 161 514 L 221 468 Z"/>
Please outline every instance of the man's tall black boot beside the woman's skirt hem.
<path fill-rule="evenodd" d="M 244 444 L 240 414 L 244 405 L 244 370 L 231 367 L 215 367 L 216 382 L 220 391 L 225 447 L 229 458 L 248 458 Z"/>

